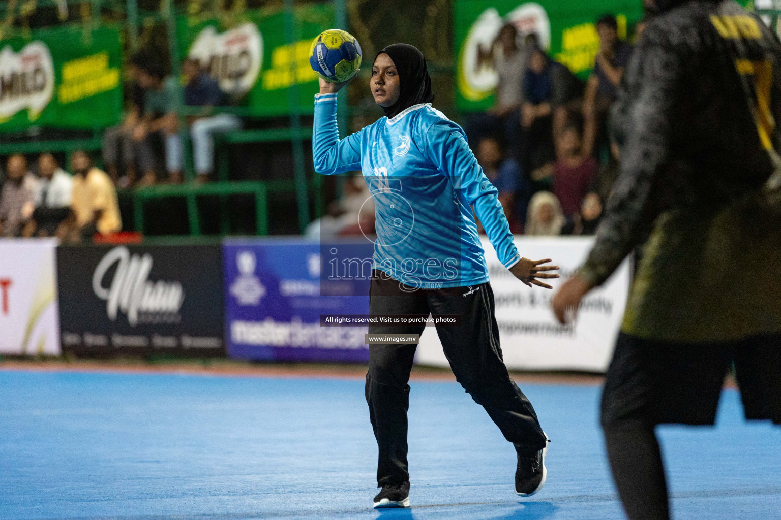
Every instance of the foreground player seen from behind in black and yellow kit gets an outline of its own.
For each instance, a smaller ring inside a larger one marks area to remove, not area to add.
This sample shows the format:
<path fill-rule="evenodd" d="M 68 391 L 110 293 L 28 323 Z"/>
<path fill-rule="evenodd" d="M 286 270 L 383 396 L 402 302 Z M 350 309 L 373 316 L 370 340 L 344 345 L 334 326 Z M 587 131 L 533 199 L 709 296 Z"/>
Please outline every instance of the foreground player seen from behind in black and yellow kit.
<path fill-rule="evenodd" d="M 553 306 L 564 323 L 640 246 L 601 422 L 629 518 L 666 520 L 655 425 L 712 424 L 731 366 L 747 419 L 781 423 L 781 208 L 768 190 L 781 45 L 732 0 L 646 4 L 658 16 L 614 108 L 615 192 Z"/>

